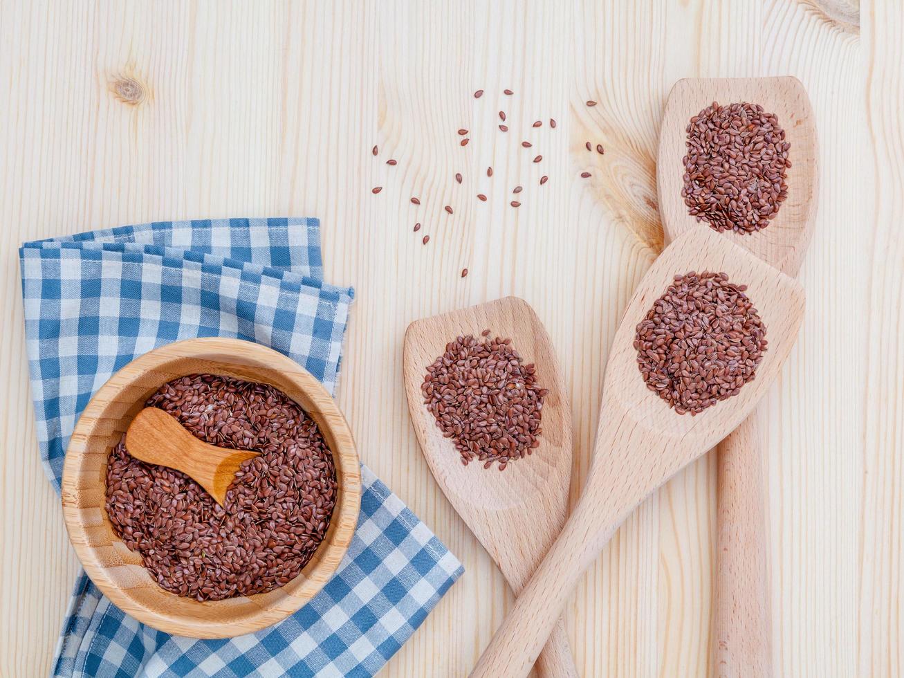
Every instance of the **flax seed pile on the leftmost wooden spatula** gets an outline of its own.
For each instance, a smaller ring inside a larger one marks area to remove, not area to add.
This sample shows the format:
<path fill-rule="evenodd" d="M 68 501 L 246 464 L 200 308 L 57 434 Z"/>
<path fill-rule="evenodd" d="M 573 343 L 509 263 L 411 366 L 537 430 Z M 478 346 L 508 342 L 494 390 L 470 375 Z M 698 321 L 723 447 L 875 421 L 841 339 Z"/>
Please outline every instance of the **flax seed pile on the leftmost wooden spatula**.
<path fill-rule="evenodd" d="M 484 468 L 532 454 L 540 446 L 543 398 L 536 367 L 524 364 L 511 339 L 472 334 L 446 344 L 427 367 L 421 384 L 424 404 L 443 436 L 452 438 L 461 463 Z"/>

